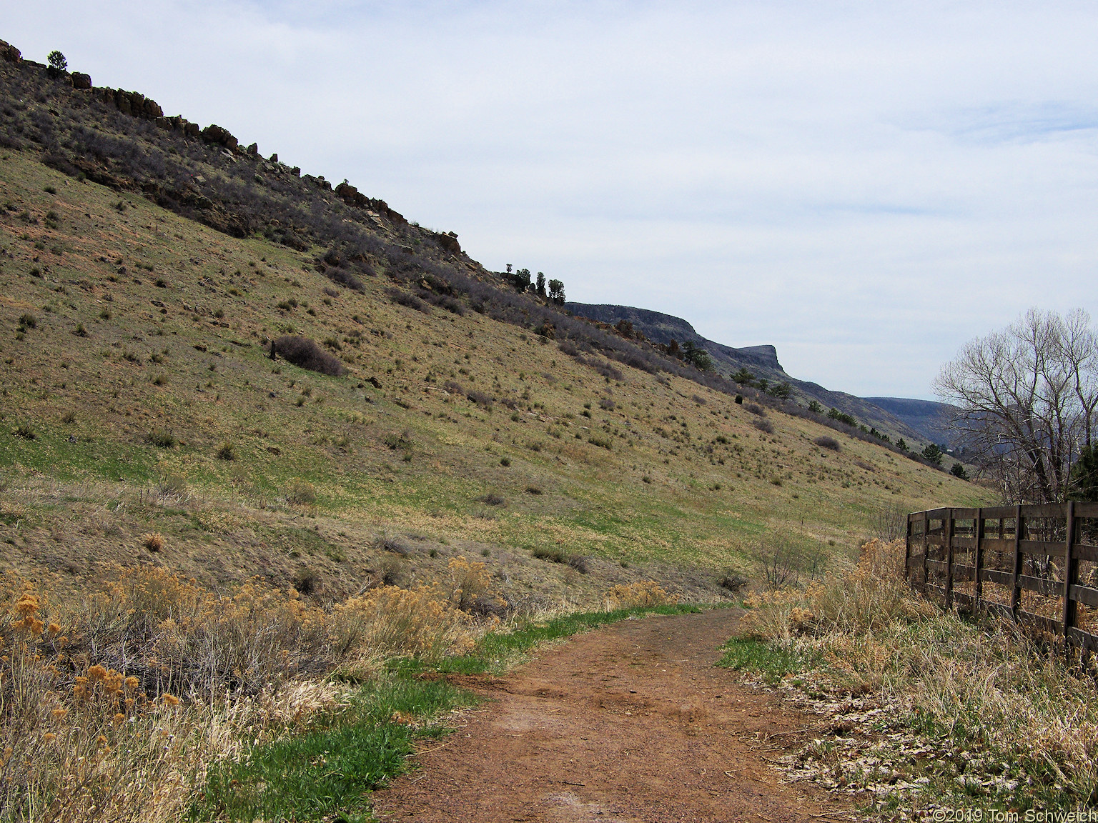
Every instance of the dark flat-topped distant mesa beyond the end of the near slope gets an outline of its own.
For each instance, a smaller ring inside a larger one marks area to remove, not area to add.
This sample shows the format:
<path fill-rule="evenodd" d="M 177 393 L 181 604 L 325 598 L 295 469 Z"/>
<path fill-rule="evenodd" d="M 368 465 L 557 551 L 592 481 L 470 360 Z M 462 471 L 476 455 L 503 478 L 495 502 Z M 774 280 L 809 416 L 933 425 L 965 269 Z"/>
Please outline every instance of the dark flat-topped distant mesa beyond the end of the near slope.
<path fill-rule="evenodd" d="M 932 426 L 929 428 L 915 426 L 906 417 L 877 404 L 873 398 L 855 397 L 845 392 L 831 391 L 818 383 L 791 376 L 778 362 L 777 349 L 773 346 L 746 346 L 742 348 L 725 346 L 702 337 L 690 323 L 681 317 L 648 308 L 591 303 L 565 303 L 564 308 L 578 317 L 587 317 L 610 325 L 628 320 L 635 330 L 643 334 L 652 342 L 668 345 L 675 340 L 680 345 L 693 343 L 709 353 L 715 370 L 721 376 L 730 377 L 740 369 L 747 369 L 757 379 L 765 377 L 771 383 L 786 382 L 793 386 L 795 396 L 799 396 L 804 404 L 814 399 L 818 401 L 825 408 L 833 407 L 852 415 L 859 422 L 890 435 L 894 439 L 903 437 L 911 446 L 930 442 L 931 438 L 935 443 L 945 442 L 939 439 L 942 435 L 938 429 Z M 897 403 L 923 404 L 928 402 L 897 401 Z M 941 404 L 929 405 L 941 406 Z M 911 419 L 929 422 L 929 418 L 926 416 L 914 415 Z"/>

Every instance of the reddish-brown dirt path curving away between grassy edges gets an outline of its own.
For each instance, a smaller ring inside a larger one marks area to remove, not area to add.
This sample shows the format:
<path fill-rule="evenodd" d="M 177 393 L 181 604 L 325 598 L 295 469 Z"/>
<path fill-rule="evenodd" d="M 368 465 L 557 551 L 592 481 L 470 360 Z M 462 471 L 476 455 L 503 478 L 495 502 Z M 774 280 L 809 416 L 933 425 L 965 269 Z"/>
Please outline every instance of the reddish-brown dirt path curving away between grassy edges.
<path fill-rule="evenodd" d="M 374 813 L 466 823 L 847 818 L 847 802 L 782 783 L 765 763 L 814 719 L 713 666 L 737 618 L 716 609 L 626 620 L 506 677 L 463 679 L 485 702 L 442 747 L 425 746 L 419 770 L 377 792 Z"/>

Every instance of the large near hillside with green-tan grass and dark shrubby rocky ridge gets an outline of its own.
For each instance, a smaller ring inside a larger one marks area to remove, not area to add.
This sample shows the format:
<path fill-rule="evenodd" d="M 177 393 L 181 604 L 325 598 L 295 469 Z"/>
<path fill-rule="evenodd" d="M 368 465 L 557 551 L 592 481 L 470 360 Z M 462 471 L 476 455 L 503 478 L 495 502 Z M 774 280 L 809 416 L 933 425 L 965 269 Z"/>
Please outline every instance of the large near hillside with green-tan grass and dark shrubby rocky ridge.
<path fill-rule="evenodd" d="M 512 604 L 647 578 L 712 599 L 778 546 L 818 572 L 881 510 L 984 499 L 737 404 L 223 129 L 25 60 L 0 94 L 5 568 L 332 600 L 466 555 Z M 272 357 L 284 336 L 344 372 Z"/>

